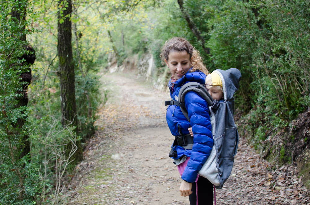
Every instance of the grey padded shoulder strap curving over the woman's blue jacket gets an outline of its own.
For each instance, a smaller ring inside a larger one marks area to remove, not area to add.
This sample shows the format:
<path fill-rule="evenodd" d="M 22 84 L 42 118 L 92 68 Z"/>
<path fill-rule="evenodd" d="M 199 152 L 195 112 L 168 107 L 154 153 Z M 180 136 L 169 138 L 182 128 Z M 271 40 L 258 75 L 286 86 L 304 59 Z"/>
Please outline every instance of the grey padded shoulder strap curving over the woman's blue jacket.
<path fill-rule="evenodd" d="M 189 83 L 184 84 L 181 87 L 181 89 L 179 91 L 179 96 L 178 96 L 180 103 L 184 103 L 185 94 L 190 92 L 190 91 L 194 91 L 194 92 L 198 93 L 203 99 L 206 100 L 208 105 L 212 106 L 212 104 L 213 104 L 212 103 L 212 101 L 213 101 L 212 97 L 210 96 L 210 94 L 208 93 L 206 88 L 197 82 L 189 82 Z M 182 107 L 180 106 L 180 108 L 181 108 L 181 111 L 183 112 L 184 116 L 186 117 L 186 119 L 190 122 L 185 104 Z"/>

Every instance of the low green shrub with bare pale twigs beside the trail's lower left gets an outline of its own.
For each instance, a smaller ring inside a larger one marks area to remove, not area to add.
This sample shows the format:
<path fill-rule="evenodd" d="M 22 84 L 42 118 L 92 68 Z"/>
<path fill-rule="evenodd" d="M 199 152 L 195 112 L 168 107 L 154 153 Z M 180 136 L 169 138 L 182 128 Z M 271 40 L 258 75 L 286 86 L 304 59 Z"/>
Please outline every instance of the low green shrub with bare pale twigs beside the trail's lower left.
<path fill-rule="evenodd" d="M 80 137 L 77 136 L 75 127 L 63 127 L 60 117 L 46 116 L 39 120 L 31 119 L 33 123 L 31 130 L 32 154 L 35 156 L 36 164 L 40 168 L 36 170 L 38 179 L 42 185 L 41 192 L 38 192 L 38 199 L 43 203 L 54 204 L 59 197 L 61 181 L 66 177 L 65 173 L 72 166 L 72 155 L 78 151 L 75 146 Z M 64 153 L 71 150 L 68 155 Z M 32 158 L 32 160 L 34 160 Z M 72 170 L 71 170 L 72 171 Z M 53 193 L 52 195 L 50 195 Z"/>

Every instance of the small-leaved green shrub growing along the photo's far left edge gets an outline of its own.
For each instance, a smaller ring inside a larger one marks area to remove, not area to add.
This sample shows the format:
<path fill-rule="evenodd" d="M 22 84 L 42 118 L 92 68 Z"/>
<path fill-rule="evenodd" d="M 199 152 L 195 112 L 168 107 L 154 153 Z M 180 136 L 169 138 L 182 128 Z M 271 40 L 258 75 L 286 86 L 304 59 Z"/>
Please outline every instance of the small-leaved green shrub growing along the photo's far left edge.
<path fill-rule="evenodd" d="M 29 54 L 24 48 L 28 42 L 22 36 L 34 30 L 24 29 L 28 21 L 12 17 L 12 10 L 23 14 L 27 1 L 2 1 L 0 16 L 0 203 L 35 204 L 42 189 L 38 179 L 38 164 L 30 154 L 22 156 L 29 132 L 29 108 L 20 106 L 26 82 L 20 75 L 30 67 L 21 58 Z M 29 10 L 28 12 L 32 12 Z M 35 15 L 33 13 L 33 15 Z M 21 18 L 22 19 L 22 18 Z M 28 141 L 28 140 L 27 140 Z M 22 156 L 22 157 L 21 157 Z"/>

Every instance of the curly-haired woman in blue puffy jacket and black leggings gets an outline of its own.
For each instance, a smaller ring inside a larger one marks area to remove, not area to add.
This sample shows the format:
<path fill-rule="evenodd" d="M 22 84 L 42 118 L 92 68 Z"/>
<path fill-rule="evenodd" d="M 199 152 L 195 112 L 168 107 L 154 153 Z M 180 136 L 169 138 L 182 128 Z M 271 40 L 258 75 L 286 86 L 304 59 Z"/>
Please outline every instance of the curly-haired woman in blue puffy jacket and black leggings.
<path fill-rule="evenodd" d="M 185 83 L 205 83 L 208 70 L 203 65 L 199 52 L 186 39 L 174 37 L 166 41 L 160 56 L 172 74 L 168 83 L 172 100 L 178 101 L 179 90 Z M 167 124 L 176 137 L 169 156 L 178 165 L 183 179 L 180 185 L 181 196 L 189 196 L 191 205 L 213 204 L 213 185 L 198 175 L 213 146 L 208 105 L 197 93 L 188 92 L 185 95 L 185 106 L 190 122 L 179 106 L 172 103 L 167 108 Z M 194 133 L 192 138 L 188 136 L 190 127 Z M 188 143 L 178 140 L 183 138 Z"/>

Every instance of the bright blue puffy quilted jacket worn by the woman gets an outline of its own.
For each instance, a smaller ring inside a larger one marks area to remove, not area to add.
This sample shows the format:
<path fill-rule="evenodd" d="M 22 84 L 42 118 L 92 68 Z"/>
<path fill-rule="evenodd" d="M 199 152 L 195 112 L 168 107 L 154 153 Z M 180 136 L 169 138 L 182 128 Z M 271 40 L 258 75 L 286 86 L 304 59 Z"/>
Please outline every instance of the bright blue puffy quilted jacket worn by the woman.
<path fill-rule="evenodd" d="M 205 83 L 206 75 L 203 72 L 187 72 L 182 78 L 174 83 L 169 81 L 170 96 L 178 100 L 180 88 L 187 82 L 195 81 L 201 84 Z M 173 159 L 179 159 L 186 155 L 190 157 L 188 164 L 182 174 L 184 181 L 193 183 L 197 178 L 197 173 L 210 155 L 213 146 L 211 133 L 211 123 L 207 102 L 195 92 L 188 92 L 185 95 L 185 106 L 188 111 L 190 122 L 185 118 L 179 106 L 170 105 L 167 108 L 166 120 L 169 129 L 174 136 L 188 134 L 188 128 L 193 128 L 194 145 L 192 150 L 184 149 L 181 146 L 174 146 L 178 156 Z M 173 145 L 172 145 L 173 146 Z"/>

